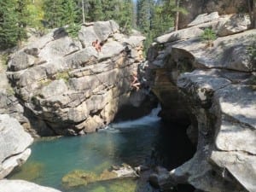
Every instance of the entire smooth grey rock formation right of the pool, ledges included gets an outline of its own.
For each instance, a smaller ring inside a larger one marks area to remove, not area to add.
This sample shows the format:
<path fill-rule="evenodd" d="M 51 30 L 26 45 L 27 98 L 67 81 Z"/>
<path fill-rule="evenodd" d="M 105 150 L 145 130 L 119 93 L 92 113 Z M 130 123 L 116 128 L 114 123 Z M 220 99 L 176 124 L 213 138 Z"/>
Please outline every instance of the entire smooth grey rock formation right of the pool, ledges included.
<path fill-rule="evenodd" d="M 177 108 L 177 113 L 187 113 L 187 133 L 197 143 L 191 160 L 168 177 L 153 176 L 161 188 L 190 183 L 203 191 L 256 191 L 256 62 L 248 52 L 256 30 L 230 30 L 213 47 L 201 41 L 201 32 L 189 34 L 205 26 L 218 34 L 236 18 L 241 17 L 197 20 L 192 23 L 198 25 L 156 38 L 148 51 L 144 74 L 163 108 L 168 106 L 166 119 Z M 182 39 L 170 38 L 186 30 Z"/>

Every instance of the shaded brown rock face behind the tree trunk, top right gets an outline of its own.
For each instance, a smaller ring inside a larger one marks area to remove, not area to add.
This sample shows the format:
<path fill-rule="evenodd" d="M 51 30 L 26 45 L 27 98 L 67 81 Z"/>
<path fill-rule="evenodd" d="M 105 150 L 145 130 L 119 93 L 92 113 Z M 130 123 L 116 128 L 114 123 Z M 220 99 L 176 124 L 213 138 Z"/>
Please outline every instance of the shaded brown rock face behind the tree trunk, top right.
<path fill-rule="evenodd" d="M 192 20 L 195 20 L 197 15 L 212 13 L 213 11 L 218 11 L 220 15 L 247 12 L 247 2 L 244 0 L 185 0 L 182 1 L 181 6 L 189 10 L 189 14 L 180 15 L 180 28 L 188 26 Z"/>

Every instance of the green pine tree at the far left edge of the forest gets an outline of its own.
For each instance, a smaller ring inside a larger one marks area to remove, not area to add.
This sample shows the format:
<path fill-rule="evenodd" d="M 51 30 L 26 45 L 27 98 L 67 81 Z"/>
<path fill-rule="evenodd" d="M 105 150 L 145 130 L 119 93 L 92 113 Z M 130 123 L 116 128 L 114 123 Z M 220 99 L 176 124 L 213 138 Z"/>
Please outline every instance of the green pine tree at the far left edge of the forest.
<path fill-rule="evenodd" d="M 15 0 L 0 1 L 0 49 L 13 47 L 18 41 L 18 15 L 15 5 Z"/>

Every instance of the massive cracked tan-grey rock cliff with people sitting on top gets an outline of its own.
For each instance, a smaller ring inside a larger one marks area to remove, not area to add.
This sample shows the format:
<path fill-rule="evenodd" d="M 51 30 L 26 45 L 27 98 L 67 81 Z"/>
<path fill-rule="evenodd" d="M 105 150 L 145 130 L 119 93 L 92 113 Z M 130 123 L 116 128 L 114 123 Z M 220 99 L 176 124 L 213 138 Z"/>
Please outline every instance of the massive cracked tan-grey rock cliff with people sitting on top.
<path fill-rule="evenodd" d="M 96 131 L 132 105 L 131 73 L 143 60 L 143 40 L 119 33 L 113 20 L 99 21 L 82 26 L 78 40 L 60 28 L 12 55 L 8 77 L 38 135 Z"/>

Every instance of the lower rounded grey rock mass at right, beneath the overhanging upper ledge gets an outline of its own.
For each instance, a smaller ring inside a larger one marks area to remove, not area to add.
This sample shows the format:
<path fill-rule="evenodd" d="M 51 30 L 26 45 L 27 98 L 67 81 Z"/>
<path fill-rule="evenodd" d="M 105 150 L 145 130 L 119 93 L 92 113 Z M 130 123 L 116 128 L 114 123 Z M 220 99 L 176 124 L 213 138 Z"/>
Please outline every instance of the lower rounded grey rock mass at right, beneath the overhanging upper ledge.
<path fill-rule="evenodd" d="M 251 85 L 241 84 L 249 77 L 247 73 L 221 70 L 196 70 L 180 76 L 177 86 L 197 119 L 200 144 L 193 160 L 173 171 L 171 177 L 191 174 L 186 178 L 189 183 L 216 191 L 210 184 L 213 170 L 217 175 L 214 188 L 255 191 L 256 92 Z M 207 179 L 199 183 L 196 178 L 202 175 L 202 165 Z M 225 183 L 229 183 L 228 188 Z"/>

